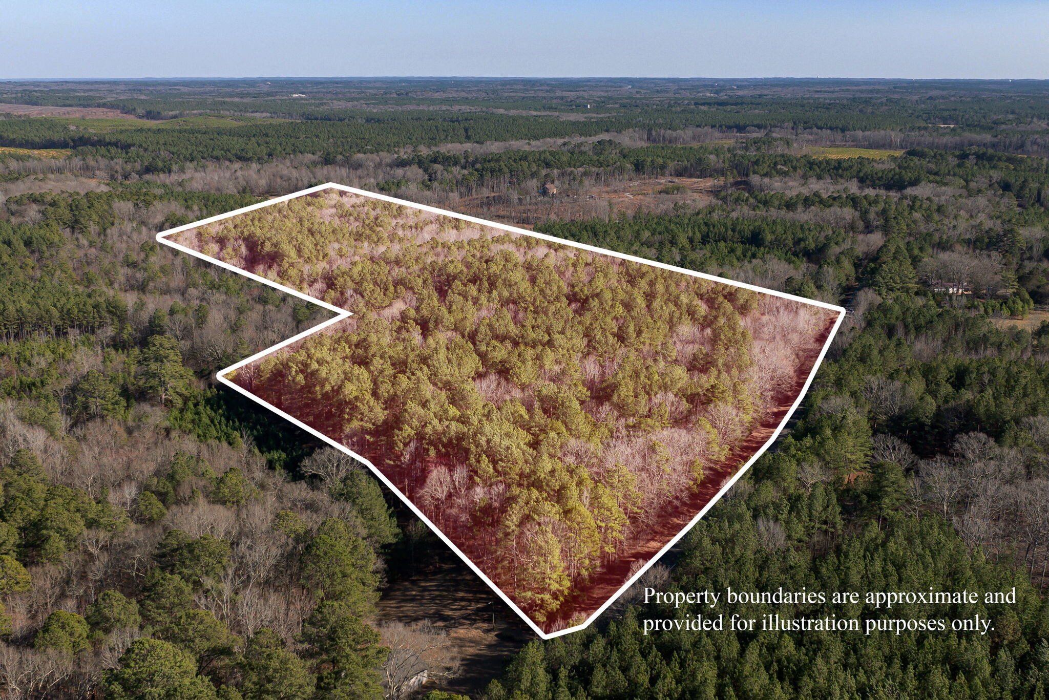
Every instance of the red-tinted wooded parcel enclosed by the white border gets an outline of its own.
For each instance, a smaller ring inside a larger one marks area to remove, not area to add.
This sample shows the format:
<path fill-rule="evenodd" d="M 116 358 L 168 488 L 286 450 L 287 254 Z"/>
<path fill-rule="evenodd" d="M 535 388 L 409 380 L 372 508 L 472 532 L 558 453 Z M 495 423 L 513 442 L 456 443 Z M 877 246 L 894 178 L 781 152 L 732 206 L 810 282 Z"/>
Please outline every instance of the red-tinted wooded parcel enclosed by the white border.
<path fill-rule="evenodd" d="M 351 316 L 224 379 L 365 461 L 541 636 L 782 429 L 842 310 L 339 186 L 162 234 Z"/>

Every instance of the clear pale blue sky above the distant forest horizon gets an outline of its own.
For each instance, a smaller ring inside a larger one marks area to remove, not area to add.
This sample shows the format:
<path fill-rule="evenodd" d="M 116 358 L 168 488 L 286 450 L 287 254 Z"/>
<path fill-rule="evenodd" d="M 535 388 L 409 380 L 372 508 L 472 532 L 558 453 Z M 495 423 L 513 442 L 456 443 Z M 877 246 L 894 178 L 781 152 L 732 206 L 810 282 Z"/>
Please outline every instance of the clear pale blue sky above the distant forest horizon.
<path fill-rule="evenodd" d="M 0 4 L 0 78 L 1049 79 L 1046 0 Z"/>

